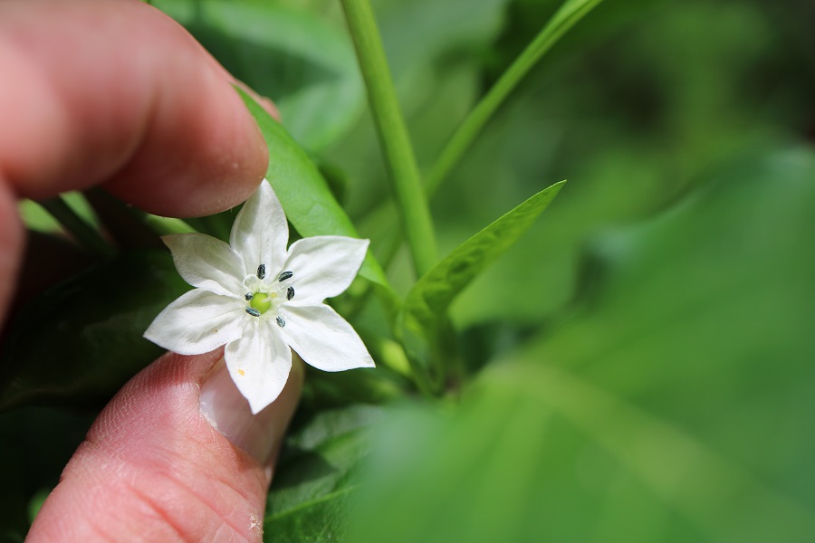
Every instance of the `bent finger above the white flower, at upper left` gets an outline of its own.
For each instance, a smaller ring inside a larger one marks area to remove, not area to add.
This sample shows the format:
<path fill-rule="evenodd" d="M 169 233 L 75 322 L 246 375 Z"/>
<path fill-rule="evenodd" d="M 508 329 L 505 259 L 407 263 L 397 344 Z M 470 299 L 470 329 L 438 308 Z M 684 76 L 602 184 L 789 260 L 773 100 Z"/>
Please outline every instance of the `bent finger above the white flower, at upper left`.
<path fill-rule="evenodd" d="M 0 70 L 0 176 L 17 195 L 105 183 L 190 216 L 264 176 L 264 140 L 226 72 L 149 5 L 0 3 Z"/>

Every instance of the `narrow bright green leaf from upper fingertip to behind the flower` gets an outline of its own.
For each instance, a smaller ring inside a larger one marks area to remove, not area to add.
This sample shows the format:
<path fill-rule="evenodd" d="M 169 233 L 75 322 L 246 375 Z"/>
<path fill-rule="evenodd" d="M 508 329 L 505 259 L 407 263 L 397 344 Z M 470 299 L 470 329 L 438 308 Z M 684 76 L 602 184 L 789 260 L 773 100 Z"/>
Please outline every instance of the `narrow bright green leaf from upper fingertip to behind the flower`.
<path fill-rule="evenodd" d="M 297 232 L 303 237 L 329 234 L 360 237 L 312 159 L 294 142 L 283 125 L 272 119 L 243 90 L 237 91 L 264 134 L 272 157 L 266 177 Z M 390 291 L 384 271 L 370 252 L 362 263 L 360 275 Z"/>

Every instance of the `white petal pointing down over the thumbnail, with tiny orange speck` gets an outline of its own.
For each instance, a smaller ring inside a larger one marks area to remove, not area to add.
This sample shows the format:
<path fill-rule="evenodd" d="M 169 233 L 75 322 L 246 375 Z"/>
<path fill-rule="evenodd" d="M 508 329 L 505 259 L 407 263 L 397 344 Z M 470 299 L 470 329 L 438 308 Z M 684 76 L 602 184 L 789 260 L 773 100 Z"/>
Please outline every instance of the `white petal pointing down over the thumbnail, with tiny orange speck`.
<path fill-rule="evenodd" d="M 292 369 L 292 351 L 272 320 L 253 319 L 244 337 L 226 346 L 229 375 L 249 401 L 252 414 L 271 404 L 283 390 Z"/>

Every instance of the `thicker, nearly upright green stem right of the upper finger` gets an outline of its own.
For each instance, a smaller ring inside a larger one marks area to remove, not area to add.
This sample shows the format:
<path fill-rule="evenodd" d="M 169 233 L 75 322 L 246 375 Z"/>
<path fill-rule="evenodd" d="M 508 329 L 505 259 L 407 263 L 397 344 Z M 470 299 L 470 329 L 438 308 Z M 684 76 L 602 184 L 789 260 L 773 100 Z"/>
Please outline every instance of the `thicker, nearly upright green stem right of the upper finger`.
<path fill-rule="evenodd" d="M 436 236 L 421 176 L 399 110 L 374 14 L 368 0 L 342 0 L 351 38 L 385 154 L 399 214 L 417 276 L 436 264 Z"/>

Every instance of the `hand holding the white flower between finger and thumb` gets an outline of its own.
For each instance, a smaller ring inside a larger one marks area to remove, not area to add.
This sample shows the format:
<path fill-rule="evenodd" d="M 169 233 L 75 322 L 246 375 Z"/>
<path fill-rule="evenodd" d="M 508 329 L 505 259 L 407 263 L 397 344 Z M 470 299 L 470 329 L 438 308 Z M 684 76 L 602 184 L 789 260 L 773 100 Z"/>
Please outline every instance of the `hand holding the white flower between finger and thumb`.
<path fill-rule="evenodd" d="M 102 186 L 185 217 L 254 191 L 268 154 L 234 82 L 149 5 L 0 2 L 0 324 L 24 279 L 18 198 Z M 250 432 L 237 447 L 199 405 L 205 380 L 231 385 L 208 377 L 221 356 L 168 354 L 134 377 L 91 427 L 28 540 L 261 540 L 301 373 L 260 418 L 238 421 L 262 425 L 264 443 Z"/>

